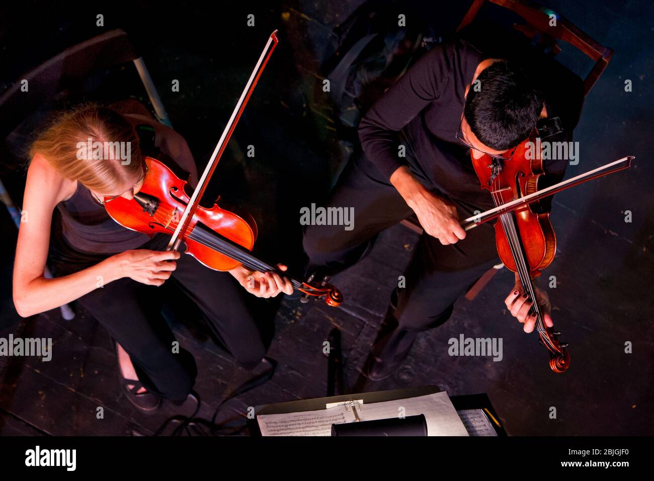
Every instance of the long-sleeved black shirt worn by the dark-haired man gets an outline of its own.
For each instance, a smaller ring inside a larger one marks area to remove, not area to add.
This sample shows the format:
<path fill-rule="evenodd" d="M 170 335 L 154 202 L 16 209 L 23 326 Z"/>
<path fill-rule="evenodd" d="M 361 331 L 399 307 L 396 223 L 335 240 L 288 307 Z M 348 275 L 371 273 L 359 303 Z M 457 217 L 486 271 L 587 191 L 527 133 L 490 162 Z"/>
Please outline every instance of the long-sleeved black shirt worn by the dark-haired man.
<path fill-rule="evenodd" d="M 479 209 L 493 207 L 481 190 L 472 168 L 470 149 L 455 138 L 464 107 L 466 86 L 485 56 L 456 39 L 424 54 L 394 86 L 370 108 L 359 126 L 366 157 L 388 179 L 402 165 L 409 165 L 441 194 Z M 541 87 L 549 117 L 562 116 L 557 92 Z M 569 126 L 570 122 L 564 122 Z M 571 129 L 547 139 L 568 141 Z M 399 145 L 406 156 L 399 156 Z M 546 175 L 540 188 L 560 181 L 568 160 L 544 160 Z M 548 203 L 549 205 L 549 203 Z"/>

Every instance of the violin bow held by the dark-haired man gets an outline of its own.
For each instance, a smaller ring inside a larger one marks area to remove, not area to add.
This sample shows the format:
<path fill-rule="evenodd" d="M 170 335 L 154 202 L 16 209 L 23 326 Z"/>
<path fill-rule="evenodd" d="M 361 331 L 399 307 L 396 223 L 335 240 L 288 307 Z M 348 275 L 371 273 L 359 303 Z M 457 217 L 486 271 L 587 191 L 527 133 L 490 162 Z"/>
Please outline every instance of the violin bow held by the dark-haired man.
<path fill-rule="evenodd" d="M 498 205 L 498 207 L 494 207 L 493 209 L 489 209 L 485 212 L 473 215 L 472 217 L 468 217 L 468 219 L 465 219 L 461 223 L 461 226 L 464 228 L 464 230 L 470 230 L 480 224 L 495 219 L 496 217 L 500 217 L 500 215 L 504 213 L 515 211 L 523 205 L 532 204 L 532 202 L 536 202 L 537 200 L 552 196 L 561 190 L 566 190 L 567 188 L 574 187 L 592 179 L 604 177 L 604 175 L 609 175 L 611 173 L 628 169 L 631 167 L 634 158 L 634 156 L 629 155 L 619 160 L 609 162 L 604 166 L 600 166 L 596 169 L 592 169 L 576 175 L 575 177 L 572 177 L 566 181 L 559 182 L 558 184 L 543 188 L 542 190 L 536 190 L 536 192 L 532 192 L 532 194 L 526 195 L 511 202 L 507 202 L 506 204 Z"/>

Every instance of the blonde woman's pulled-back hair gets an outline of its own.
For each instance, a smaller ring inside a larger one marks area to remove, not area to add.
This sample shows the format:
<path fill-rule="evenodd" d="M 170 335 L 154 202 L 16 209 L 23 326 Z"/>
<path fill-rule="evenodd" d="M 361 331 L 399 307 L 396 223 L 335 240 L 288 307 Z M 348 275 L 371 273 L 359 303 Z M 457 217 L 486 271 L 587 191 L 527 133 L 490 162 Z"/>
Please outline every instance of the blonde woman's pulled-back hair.
<path fill-rule="evenodd" d="M 129 159 L 94 158 L 87 153 L 89 142 L 127 145 Z M 37 153 L 67 179 L 103 194 L 117 194 L 143 172 L 139 136 L 133 126 L 119 113 L 95 103 L 80 105 L 54 118 L 29 148 L 29 158 Z"/>

